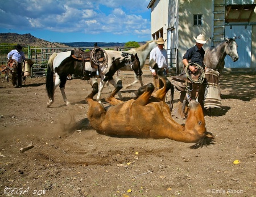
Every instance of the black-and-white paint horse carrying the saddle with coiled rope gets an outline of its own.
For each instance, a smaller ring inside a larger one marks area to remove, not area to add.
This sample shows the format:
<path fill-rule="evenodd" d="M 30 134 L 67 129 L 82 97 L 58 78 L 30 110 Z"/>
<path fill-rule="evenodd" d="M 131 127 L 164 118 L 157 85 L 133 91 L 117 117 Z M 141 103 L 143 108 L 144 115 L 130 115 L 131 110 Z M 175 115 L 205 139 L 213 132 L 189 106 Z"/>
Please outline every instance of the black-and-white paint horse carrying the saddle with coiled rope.
<path fill-rule="evenodd" d="M 84 70 L 81 60 L 73 58 L 72 54 L 73 51 L 53 53 L 49 58 L 46 75 L 46 91 L 49 97 L 47 107 L 52 105 L 54 101 L 54 92 L 58 85 L 63 96 L 63 101 L 66 105 L 70 104 L 65 95 L 65 83 L 67 82 L 68 74 L 82 76 L 86 75 L 86 71 L 88 73 L 94 73 L 92 76 L 87 76 L 88 78 L 94 78 L 96 75 L 96 68 L 92 68 L 90 62 L 85 62 Z M 108 55 L 109 60 L 108 65 L 101 67 L 99 70 L 101 87 L 104 87 L 103 84 L 105 84 L 105 80 L 116 87 L 116 83 L 113 80 L 114 73 L 123 66 L 131 65 L 131 62 L 135 60 L 135 55 L 122 52 L 117 53 L 113 50 L 106 50 L 106 54 Z M 55 74 L 55 80 L 53 80 L 53 72 Z M 121 93 L 119 93 L 119 97 L 122 97 Z"/>

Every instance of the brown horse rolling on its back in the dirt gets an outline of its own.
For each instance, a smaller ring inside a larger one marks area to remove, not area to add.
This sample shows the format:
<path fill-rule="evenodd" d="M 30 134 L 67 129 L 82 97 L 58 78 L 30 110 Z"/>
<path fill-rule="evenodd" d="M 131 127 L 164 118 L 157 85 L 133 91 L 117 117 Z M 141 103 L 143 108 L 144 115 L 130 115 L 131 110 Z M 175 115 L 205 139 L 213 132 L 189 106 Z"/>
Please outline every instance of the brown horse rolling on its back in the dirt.
<path fill-rule="evenodd" d="M 163 101 L 171 87 L 170 81 L 158 71 L 164 83 L 152 96 L 152 83 L 138 89 L 137 99 L 120 101 L 114 95 L 122 88 L 119 79 L 117 87 L 106 101 L 112 104 L 104 108 L 93 96 L 98 92 L 97 81 L 92 83 L 93 91 L 85 100 L 89 104 L 88 119 L 99 133 L 109 136 L 133 136 L 136 138 L 168 138 L 185 143 L 196 143 L 192 148 L 203 147 L 212 143 L 213 135 L 207 132 L 203 110 L 198 102 L 189 103 L 189 114 L 185 125 L 179 125 L 171 117 L 170 108 Z"/>

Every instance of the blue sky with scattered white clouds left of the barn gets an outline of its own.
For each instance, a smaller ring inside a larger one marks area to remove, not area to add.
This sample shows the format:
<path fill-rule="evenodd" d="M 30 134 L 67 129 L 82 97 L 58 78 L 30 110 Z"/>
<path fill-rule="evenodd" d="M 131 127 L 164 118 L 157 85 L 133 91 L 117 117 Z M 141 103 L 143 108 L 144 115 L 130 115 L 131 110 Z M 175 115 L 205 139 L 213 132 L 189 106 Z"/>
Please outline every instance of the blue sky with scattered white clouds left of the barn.
<path fill-rule="evenodd" d="M 0 0 L 0 33 L 52 42 L 151 40 L 150 0 Z"/>

